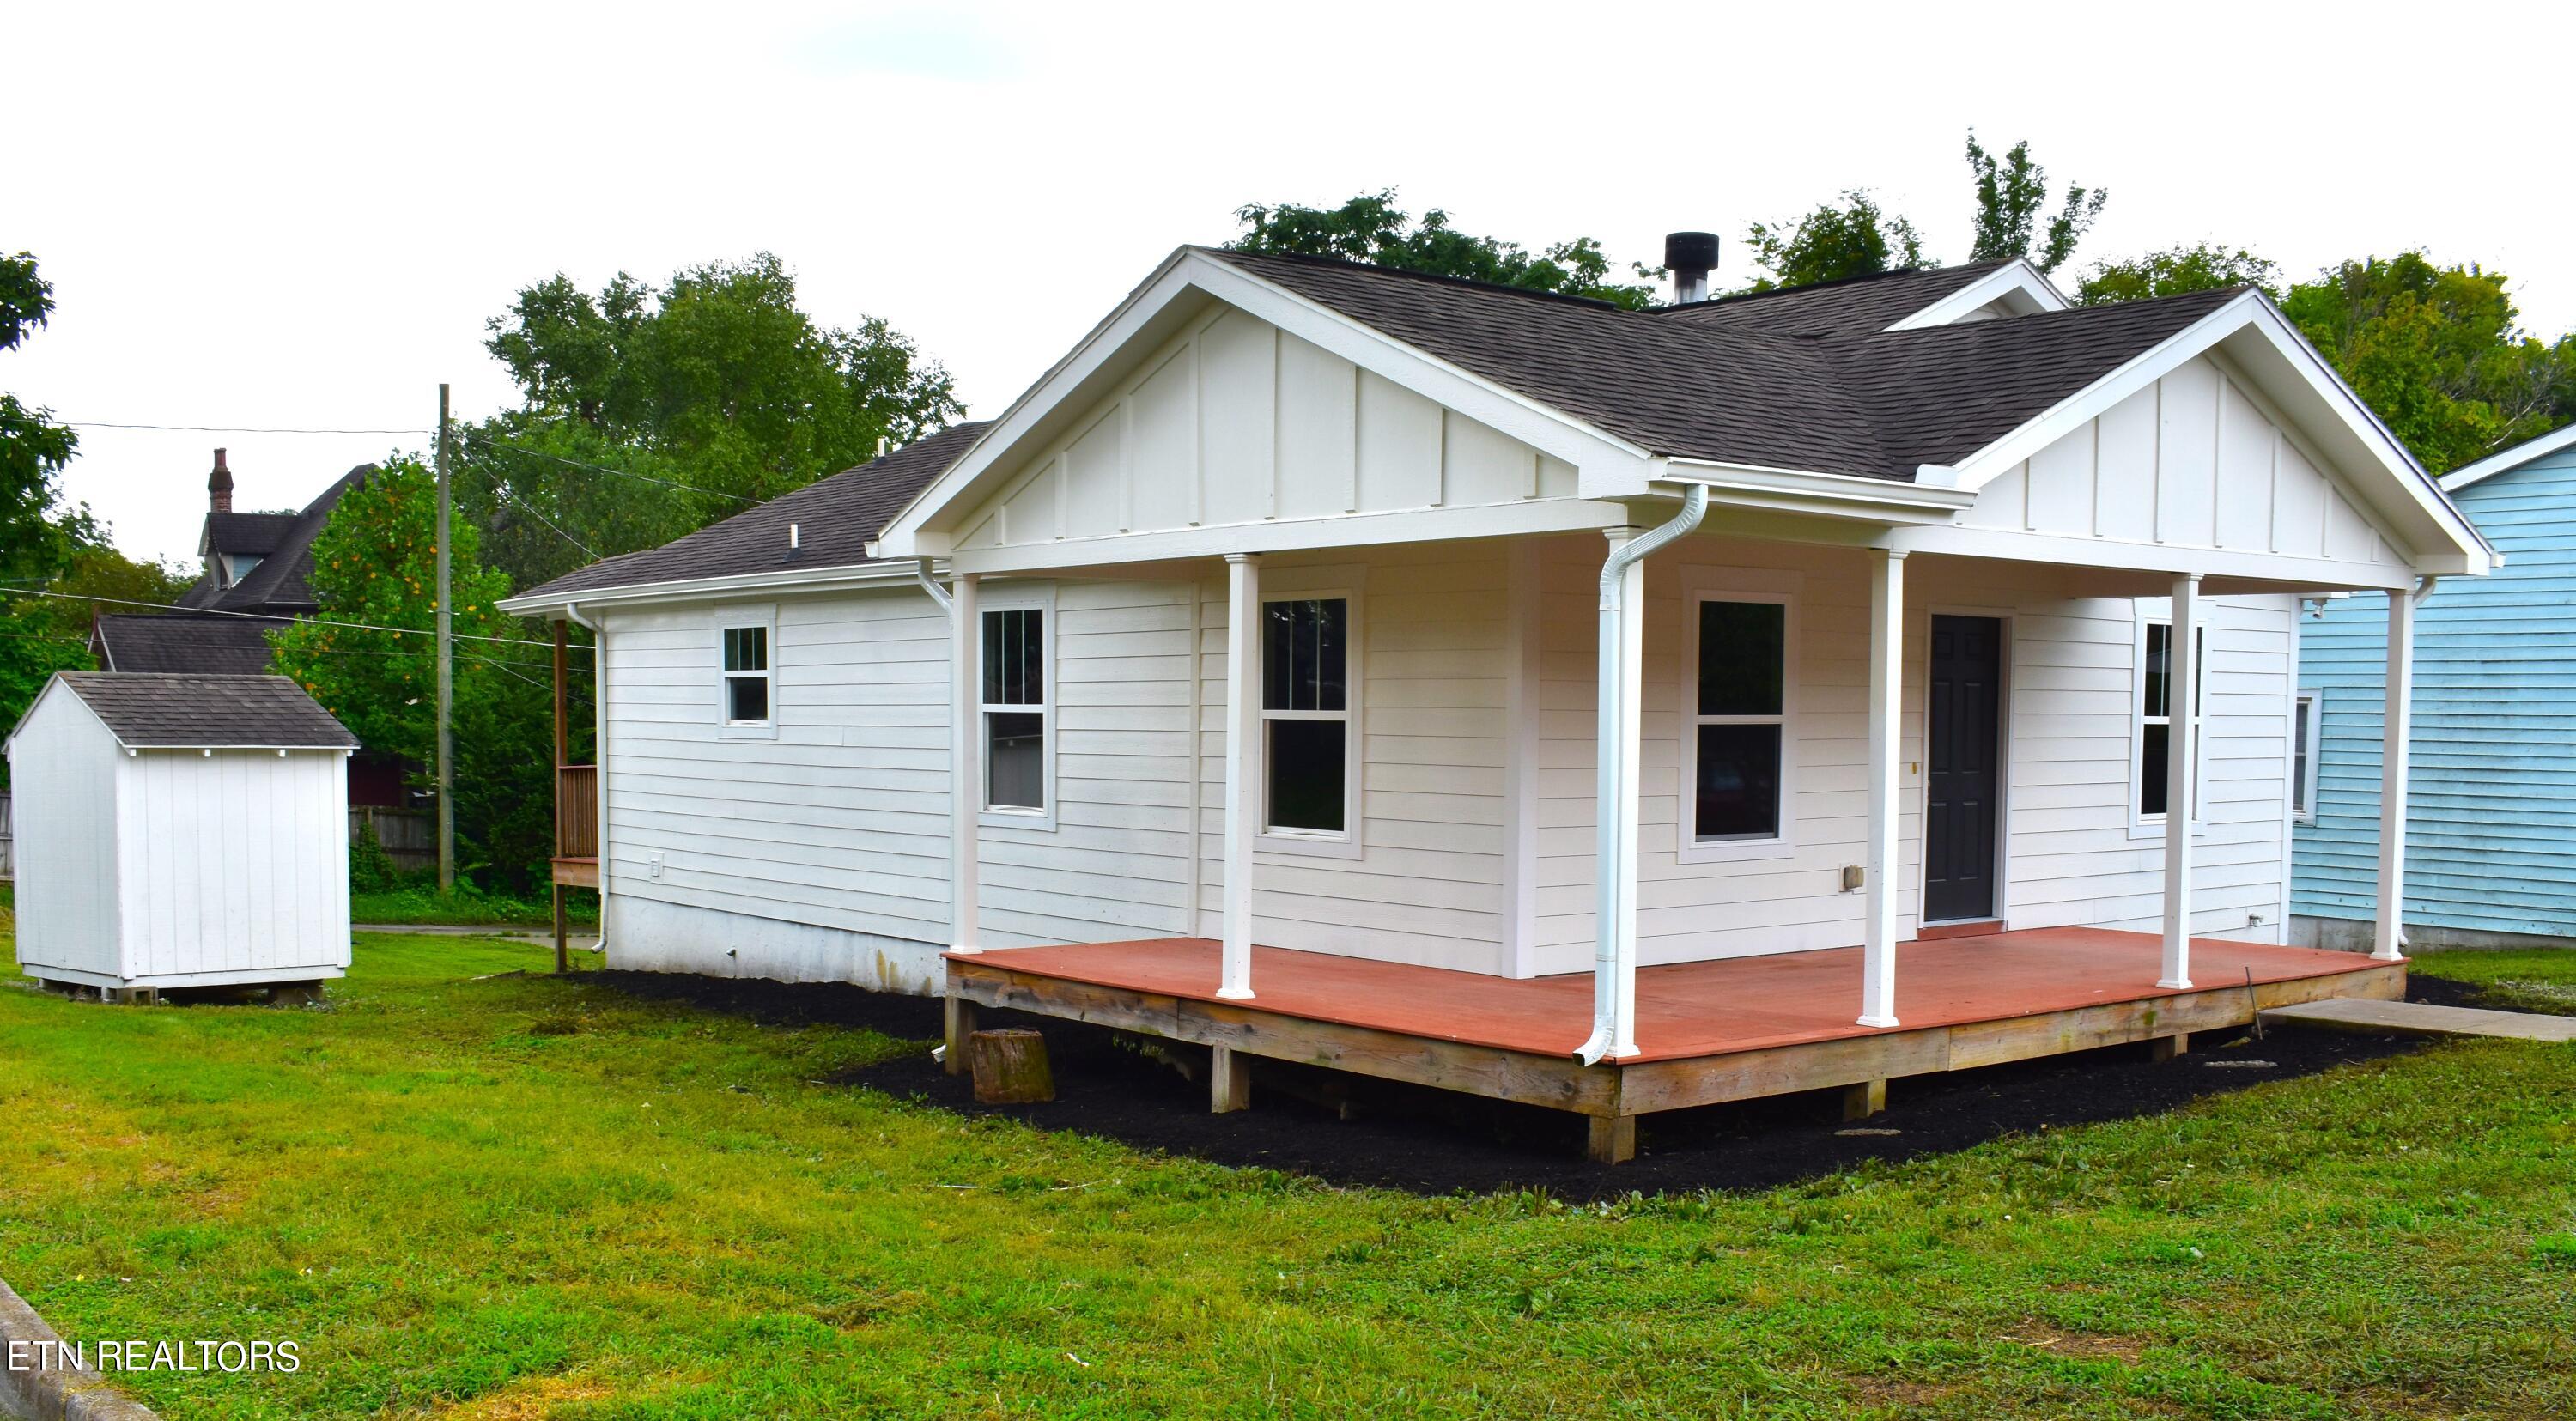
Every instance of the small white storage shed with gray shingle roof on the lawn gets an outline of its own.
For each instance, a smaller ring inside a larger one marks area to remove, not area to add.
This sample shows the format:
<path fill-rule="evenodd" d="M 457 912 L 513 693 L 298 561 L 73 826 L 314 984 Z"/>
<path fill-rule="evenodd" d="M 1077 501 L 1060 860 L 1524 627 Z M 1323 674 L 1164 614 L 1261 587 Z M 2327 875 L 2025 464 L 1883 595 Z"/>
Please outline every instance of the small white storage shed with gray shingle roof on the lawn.
<path fill-rule="evenodd" d="M 8 736 L 18 965 L 103 994 L 343 976 L 353 749 L 286 677 L 57 672 Z"/>

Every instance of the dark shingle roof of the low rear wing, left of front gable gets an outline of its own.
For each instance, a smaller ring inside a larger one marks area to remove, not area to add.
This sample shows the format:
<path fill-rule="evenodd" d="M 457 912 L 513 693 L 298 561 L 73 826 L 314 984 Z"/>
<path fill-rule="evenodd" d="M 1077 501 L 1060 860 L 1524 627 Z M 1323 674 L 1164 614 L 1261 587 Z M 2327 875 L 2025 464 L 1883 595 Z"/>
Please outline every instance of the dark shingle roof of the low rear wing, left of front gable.
<path fill-rule="evenodd" d="M 868 538 L 876 538 L 886 520 L 912 502 L 912 494 L 945 474 L 989 425 L 989 420 L 948 425 L 884 458 L 832 474 L 829 479 L 817 479 L 793 494 L 781 494 L 724 523 L 708 523 L 688 538 L 603 559 L 510 597 L 567 597 L 605 587 L 690 582 L 701 577 L 781 571 L 788 566 L 863 566 L 873 561 L 868 556 Z M 801 541 L 793 561 L 788 561 L 788 523 L 796 525 Z"/>

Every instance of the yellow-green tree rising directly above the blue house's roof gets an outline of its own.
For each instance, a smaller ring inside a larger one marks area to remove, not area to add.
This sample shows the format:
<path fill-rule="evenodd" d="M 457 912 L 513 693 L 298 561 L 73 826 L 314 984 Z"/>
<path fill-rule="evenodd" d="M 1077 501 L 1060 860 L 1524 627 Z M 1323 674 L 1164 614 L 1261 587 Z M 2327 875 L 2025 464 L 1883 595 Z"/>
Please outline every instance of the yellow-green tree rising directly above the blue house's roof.
<path fill-rule="evenodd" d="M 2504 273 L 2424 252 L 2326 268 L 2282 311 L 2434 474 L 2576 420 L 2576 337 L 2514 322 Z"/>

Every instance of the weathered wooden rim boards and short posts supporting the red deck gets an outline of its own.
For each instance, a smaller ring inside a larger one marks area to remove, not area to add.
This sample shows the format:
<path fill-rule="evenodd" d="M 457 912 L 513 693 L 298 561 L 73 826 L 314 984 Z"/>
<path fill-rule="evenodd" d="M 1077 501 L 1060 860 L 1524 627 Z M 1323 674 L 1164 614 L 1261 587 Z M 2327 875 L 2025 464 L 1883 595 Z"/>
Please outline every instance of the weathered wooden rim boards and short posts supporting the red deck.
<path fill-rule="evenodd" d="M 2342 960 L 2349 968 L 2334 963 L 2329 971 L 2280 981 L 2141 991 L 2120 1001 L 1914 1030 L 1584 1066 L 1571 1053 L 1443 1040 L 1378 1025 L 1288 1014 L 1265 1009 L 1257 999 L 1216 1001 L 1074 981 L 1036 963 L 1015 965 L 1012 952 L 1002 950 L 948 958 L 948 1063 L 956 1068 L 963 1058 L 976 1007 L 1005 1007 L 1208 1045 L 1221 1055 L 1296 1061 L 1587 1115 L 1595 1120 L 1592 1156 L 1615 1164 L 1636 1151 L 1633 1120 L 1659 1110 L 1850 1086 L 1847 1110 L 1870 1112 L 1883 1107 L 1886 1081 L 1896 1076 L 2002 1066 L 2120 1043 L 2169 1040 L 2179 1048 L 2190 1032 L 2244 1027 L 2254 1022 L 2257 1012 L 2272 1007 L 2329 996 L 2398 999 L 2406 994 L 2403 963 Z M 1708 965 L 1718 968 L 1721 963 Z M 1239 1071 L 1224 1071 L 1221 1079 L 1236 1097 L 1242 1094 Z M 1239 1110 L 1242 1104 L 1242 1099 L 1231 1099 L 1216 1107 Z"/>

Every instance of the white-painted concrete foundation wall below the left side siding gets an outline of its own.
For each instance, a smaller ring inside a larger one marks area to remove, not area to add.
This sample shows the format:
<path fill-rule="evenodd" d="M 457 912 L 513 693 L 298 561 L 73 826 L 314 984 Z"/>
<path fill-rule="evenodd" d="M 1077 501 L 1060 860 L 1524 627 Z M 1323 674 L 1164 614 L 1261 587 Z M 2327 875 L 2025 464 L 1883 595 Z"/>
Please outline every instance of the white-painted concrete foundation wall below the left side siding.
<path fill-rule="evenodd" d="M 938 996 L 940 947 L 873 932 L 608 896 L 608 965 L 770 981 L 848 981 L 868 991 Z"/>

